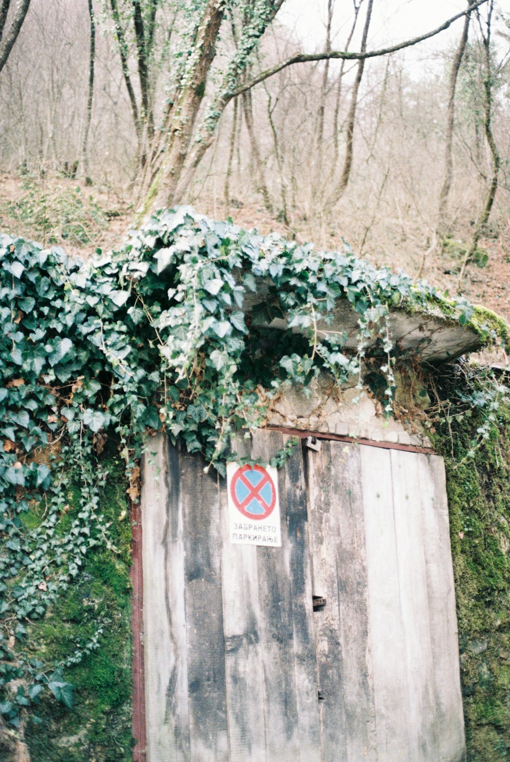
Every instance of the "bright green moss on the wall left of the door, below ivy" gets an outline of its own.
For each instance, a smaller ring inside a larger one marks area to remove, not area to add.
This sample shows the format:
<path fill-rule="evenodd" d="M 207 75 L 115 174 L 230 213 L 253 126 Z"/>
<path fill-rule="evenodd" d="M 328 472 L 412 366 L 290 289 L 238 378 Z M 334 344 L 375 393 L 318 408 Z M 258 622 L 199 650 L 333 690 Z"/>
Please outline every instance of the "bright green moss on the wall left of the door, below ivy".
<path fill-rule="evenodd" d="M 31 626 L 32 642 L 42 643 L 43 661 L 59 661 L 90 642 L 102 626 L 100 647 L 64 671 L 74 686 L 74 705 L 53 698 L 40 705 L 42 723 L 27 725 L 30 757 L 37 762 L 113 762 L 131 760 L 130 541 L 123 466 L 113 451 L 105 457 L 107 481 L 101 510 L 119 552 L 97 547 L 88 555 L 75 584 Z M 69 521 L 78 510 L 78 493 L 69 492 Z M 37 630 L 37 632 L 36 632 Z"/>

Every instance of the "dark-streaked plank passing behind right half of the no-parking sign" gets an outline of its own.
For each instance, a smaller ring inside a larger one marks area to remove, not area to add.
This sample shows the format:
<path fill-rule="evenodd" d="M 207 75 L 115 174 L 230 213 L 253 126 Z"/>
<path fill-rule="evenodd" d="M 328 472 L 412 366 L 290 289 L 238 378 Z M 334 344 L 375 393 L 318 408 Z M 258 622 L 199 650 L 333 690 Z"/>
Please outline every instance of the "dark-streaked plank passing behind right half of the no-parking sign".
<path fill-rule="evenodd" d="M 268 460 L 283 446 L 282 434 L 256 431 L 253 458 Z M 292 592 L 286 532 L 285 477 L 279 471 L 282 546 L 257 546 L 260 644 L 264 669 L 264 718 L 267 760 L 299 759 Z"/>

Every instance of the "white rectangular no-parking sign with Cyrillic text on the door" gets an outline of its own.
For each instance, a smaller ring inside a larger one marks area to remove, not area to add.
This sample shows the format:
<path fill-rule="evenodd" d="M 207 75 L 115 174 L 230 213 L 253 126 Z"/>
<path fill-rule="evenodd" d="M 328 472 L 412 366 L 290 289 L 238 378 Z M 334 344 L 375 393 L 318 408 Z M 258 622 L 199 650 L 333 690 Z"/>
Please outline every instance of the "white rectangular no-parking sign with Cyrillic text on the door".
<path fill-rule="evenodd" d="M 227 463 L 227 491 L 231 543 L 281 546 L 276 468 Z"/>

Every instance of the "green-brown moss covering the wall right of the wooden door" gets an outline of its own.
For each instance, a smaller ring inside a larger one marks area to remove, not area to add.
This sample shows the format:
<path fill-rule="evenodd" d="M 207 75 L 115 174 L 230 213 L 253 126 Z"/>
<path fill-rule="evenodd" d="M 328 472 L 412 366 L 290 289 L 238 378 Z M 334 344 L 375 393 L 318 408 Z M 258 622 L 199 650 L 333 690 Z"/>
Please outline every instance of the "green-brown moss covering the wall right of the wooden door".
<path fill-rule="evenodd" d="M 477 415 L 439 424 L 454 562 L 467 759 L 510 755 L 510 406 L 469 463 Z M 454 448 L 454 456 L 451 447 Z"/>

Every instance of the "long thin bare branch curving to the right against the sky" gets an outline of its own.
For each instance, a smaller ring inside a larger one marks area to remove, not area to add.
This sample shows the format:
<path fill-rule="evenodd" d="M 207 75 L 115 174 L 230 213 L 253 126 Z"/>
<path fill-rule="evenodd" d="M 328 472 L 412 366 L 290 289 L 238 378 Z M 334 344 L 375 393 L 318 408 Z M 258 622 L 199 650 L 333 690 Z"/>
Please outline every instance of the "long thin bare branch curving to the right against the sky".
<path fill-rule="evenodd" d="M 235 88 L 235 90 L 231 93 L 231 96 L 241 95 L 247 90 L 250 90 L 250 88 L 253 88 L 255 85 L 258 85 L 259 82 L 263 82 L 264 79 L 272 77 L 273 74 L 277 74 L 278 72 L 281 72 L 282 69 L 286 69 L 287 66 L 292 66 L 295 63 L 325 61 L 332 58 L 359 61 L 367 58 L 376 58 L 377 56 L 387 56 L 388 53 L 396 53 L 397 50 L 403 50 L 406 47 L 421 43 L 423 40 L 429 40 L 430 37 L 435 37 L 436 34 L 439 34 L 440 32 L 445 31 L 445 29 L 448 29 L 448 27 L 450 27 L 454 21 L 457 21 L 458 18 L 462 18 L 466 14 L 473 11 L 475 8 L 483 5 L 485 2 L 487 2 L 487 0 L 477 0 L 477 2 L 473 2 L 473 4 L 470 5 L 469 8 L 467 8 L 465 11 L 461 11 L 460 13 L 452 16 L 448 19 L 448 21 L 445 21 L 444 24 L 441 24 L 440 27 L 432 30 L 432 32 L 421 34 L 419 37 L 413 37 L 413 40 L 406 40 L 403 43 L 390 45 L 389 47 L 381 48 L 380 50 L 368 50 L 365 53 L 349 53 L 349 51 L 346 50 L 330 50 L 323 53 L 295 53 L 294 56 L 290 56 L 290 58 L 285 59 L 285 61 L 277 63 L 276 66 L 272 66 L 271 69 L 266 69 L 265 72 L 260 72 L 260 74 L 258 74 L 256 77 L 253 77 L 253 79 L 250 79 L 247 82 L 244 82 L 242 85 L 239 85 L 239 87 Z"/>

